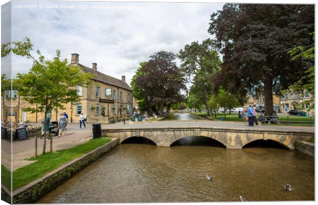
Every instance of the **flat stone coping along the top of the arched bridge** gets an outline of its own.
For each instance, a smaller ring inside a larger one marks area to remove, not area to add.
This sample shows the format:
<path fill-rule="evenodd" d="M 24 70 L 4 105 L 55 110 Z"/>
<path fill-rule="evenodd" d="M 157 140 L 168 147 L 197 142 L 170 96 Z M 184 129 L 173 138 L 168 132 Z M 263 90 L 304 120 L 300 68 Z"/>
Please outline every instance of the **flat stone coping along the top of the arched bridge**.
<path fill-rule="evenodd" d="M 111 132 L 111 131 L 129 131 L 129 130 L 160 130 L 160 131 L 171 131 L 171 130 L 193 130 L 193 129 L 202 129 L 202 130 L 215 130 L 215 131 L 227 131 L 227 132 L 267 132 L 267 133 L 295 133 L 295 134 L 314 134 L 313 131 L 300 131 L 300 130 L 284 130 L 284 129 L 263 129 L 263 128 L 220 128 L 220 127 L 206 127 L 206 126 L 178 126 L 178 127 L 149 127 L 149 128 L 107 128 L 102 129 L 102 131 Z"/>

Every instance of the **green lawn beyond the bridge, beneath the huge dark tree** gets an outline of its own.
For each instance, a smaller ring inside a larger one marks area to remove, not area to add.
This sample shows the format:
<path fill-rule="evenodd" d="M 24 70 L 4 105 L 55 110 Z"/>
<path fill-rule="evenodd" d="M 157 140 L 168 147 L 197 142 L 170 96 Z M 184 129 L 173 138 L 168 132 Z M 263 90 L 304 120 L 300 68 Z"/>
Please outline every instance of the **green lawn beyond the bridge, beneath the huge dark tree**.
<path fill-rule="evenodd" d="M 205 117 L 208 117 L 209 119 L 212 119 L 212 120 L 215 120 L 215 119 L 221 120 L 222 117 L 224 118 L 224 113 L 217 114 L 216 118 L 215 118 L 214 114 L 211 116 L 209 116 L 207 113 L 202 113 L 202 112 L 197 112 L 197 113 L 192 112 L 192 114 L 205 116 Z M 310 117 L 289 115 L 288 118 L 289 118 L 289 125 L 290 126 L 310 126 Z M 280 116 L 279 115 L 279 119 L 280 119 L 281 124 L 278 124 L 278 125 L 286 125 L 287 126 L 287 116 Z M 226 118 L 224 118 L 224 121 L 246 121 L 246 120 L 238 118 L 237 113 L 233 113 L 233 114 L 226 114 Z M 266 124 L 266 126 L 267 125 L 268 124 Z M 270 124 L 270 126 L 271 125 L 276 125 L 276 124 Z M 314 118 L 312 118 L 312 126 L 314 126 Z"/>

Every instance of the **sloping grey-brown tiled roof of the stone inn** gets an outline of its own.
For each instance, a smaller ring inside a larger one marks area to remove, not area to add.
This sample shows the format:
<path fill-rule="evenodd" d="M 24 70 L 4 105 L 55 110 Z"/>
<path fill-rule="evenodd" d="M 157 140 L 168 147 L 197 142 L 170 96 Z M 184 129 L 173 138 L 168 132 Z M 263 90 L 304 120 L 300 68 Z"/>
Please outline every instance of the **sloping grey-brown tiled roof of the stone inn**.
<path fill-rule="evenodd" d="M 106 84 L 109 84 L 109 85 L 113 85 L 113 86 L 116 86 L 116 87 L 120 87 L 120 88 L 124 88 L 126 90 L 132 91 L 130 86 L 123 80 L 120 80 L 120 79 L 114 78 L 112 76 L 106 75 L 106 74 L 101 73 L 101 72 L 99 72 L 97 70 L 93 70 L 91 68 L 83 66 L 82 64 L 78 64 L 78 66 L 81 67 L 82 70 L 85 73 L 95 74 L 95 76 L 93 77 L 94 80 L 101 81 L 102 83 L 106 83 Z"/>

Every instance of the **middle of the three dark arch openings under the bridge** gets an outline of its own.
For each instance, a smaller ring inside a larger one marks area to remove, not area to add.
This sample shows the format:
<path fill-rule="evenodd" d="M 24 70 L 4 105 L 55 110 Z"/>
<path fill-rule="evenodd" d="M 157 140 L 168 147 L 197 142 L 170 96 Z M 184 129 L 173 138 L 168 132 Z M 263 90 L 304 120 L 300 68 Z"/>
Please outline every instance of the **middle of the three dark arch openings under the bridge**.
<path fill-rule="evenodd" d="M 180 137 L 174 141 L 171 142 L 170 147 L 173 146 L 216 146 L 216 147 L 223 147 L 226 148 L 226 145 L 224 145 L 221 141 L 218 141 L 217 139 L 214 139 L 212 137 L 208 136 L 195 136 L 195 135 L 190 135 L 190 136 L 183 136 Z"/>

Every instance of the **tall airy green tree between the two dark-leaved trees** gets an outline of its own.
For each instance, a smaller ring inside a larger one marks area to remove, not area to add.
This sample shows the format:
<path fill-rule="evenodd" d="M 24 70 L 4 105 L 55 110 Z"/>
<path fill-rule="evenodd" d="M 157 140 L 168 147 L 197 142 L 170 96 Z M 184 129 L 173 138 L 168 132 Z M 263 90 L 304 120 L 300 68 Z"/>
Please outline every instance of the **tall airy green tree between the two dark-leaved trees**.
<path fill-rule="evenodd" d="M 178 57 L 181 59 L 181 69 L 187 80 L 196 88 L 200 87 L 197 89 L 198 95 L 202 96 L 208 115 L 211 115 L 208 106 L 208 97 L 213 86 L 211 78 L 221 69 L 215 40 L 208 38 L 202 44 L 192 42 L 179 52 Z"/>

